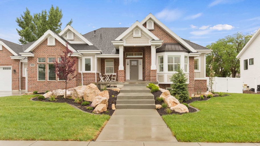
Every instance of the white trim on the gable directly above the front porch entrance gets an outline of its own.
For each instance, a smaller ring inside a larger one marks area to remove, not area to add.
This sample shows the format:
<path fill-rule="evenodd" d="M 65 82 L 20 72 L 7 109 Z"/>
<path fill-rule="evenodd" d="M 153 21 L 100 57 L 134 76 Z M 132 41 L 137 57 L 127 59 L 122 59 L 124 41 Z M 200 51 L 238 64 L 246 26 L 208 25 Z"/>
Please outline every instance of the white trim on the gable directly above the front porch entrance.
<path fill-rule="evenodd" d="M 129 32 L 133 32 L 133 29 L 138 26 L 142 31 L 144 31 L 146 34 L 148 34 L 152 39 L 154 40 L 160 40 L 159 38 L 157 38 L 152 32 L 150 32 L 149 30 L 147 30 L 140 22 L 135 21 L 135 23 L 130 26 L 127 30 L 125 30 L 125 32 L 123 32 L 120 36 L 118 36 L 115 41 L 119 41 L 121 39 L 123 39 Z"/>

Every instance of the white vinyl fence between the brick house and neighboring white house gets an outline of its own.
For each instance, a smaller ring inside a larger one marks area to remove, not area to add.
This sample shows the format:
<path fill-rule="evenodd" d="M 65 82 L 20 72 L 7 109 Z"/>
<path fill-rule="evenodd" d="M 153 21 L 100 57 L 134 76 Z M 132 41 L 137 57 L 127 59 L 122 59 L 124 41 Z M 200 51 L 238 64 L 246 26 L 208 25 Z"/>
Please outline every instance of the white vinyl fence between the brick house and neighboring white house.
<path fill-rule="evenodd" d="M 209 77 L 207 78 L 207 87 L 210 91 Z M 226 93 L 243 93 L 243 80 L 242 78 L 229 78 L 229 77 L 214 77 L 212 90 L 215 92 Z"/>

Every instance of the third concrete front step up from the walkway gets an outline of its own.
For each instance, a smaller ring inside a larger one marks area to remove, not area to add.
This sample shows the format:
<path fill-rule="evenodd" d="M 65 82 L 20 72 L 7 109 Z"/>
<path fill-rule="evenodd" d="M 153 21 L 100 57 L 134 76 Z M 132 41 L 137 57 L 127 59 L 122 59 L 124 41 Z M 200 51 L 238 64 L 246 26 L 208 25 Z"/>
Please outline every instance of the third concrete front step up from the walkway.
<path fill-rule="evenodd" d="M 120 93 L 117 95 L 118 99 L 153 99 L 154 96 L 152 93 Z"/>

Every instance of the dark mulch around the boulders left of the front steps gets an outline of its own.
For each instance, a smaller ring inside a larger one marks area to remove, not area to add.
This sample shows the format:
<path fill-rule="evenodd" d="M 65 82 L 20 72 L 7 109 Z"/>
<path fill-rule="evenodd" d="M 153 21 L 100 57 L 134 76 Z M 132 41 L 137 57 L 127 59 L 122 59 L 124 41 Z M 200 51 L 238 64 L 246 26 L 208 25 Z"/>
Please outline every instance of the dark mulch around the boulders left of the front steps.
<path fill-rule="evenodd" d="M 117 95 L 119 94 L 119 92 L 117 91 L 113 91 L 113 90 L 107 90 L 108 93 L 109 93 L 109 99 L 108 99 L 108 108 L 107 108 L 107 112 L 102 112 L 100 114 L 107 114 L 109 116 L 112 116 L 112 114 L 114 113 L 114 110 L 112 110 L 111 106 L 112 104 L 116 104 L 116 100 L 117 100 Z M 114 97 L 112 98 L 112 95 L 114 95 Z M 43 102 L 58 102 L 58 103 L 68 103 L 68 104 L 72 104 L 74 106 L 77 106 L 79 109 L 83 110 L 83 111 L 86 111 L 86 112 L 90 112 L 92 113 L 93 110 L 89 110 L 89 109 L 86 109 L 86 107 L 90 106 L 91 105 L 91 101 L 90 101 L 90 104 L 88 106 L 82 106 L 81 103 L 82 102 L 79 102 L 79 103 L 75 103 L 74 102 L 74 99 L 65 99 L 65 98 L 55 98 L 56 101 L 50 101 L 48 100 L 49 98 L 46 98 L 44 100 L 41 100 Z M 34 101 L 39 101 L 38 98 L 34 98 L 33 99 Z"/>

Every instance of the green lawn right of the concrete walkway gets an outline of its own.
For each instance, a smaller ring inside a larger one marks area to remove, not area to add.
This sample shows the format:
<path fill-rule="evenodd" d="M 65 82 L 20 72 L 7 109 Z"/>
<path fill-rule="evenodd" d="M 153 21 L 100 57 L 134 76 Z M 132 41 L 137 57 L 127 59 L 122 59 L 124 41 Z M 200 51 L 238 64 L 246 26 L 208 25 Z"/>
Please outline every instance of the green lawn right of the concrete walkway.
<path fill-rule="evenodd" d="M 260 95 L 192 102 L 200 112 L 162 116 L 180 142 L 260 142 Z"/>

